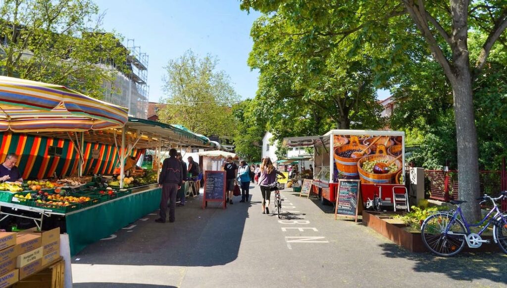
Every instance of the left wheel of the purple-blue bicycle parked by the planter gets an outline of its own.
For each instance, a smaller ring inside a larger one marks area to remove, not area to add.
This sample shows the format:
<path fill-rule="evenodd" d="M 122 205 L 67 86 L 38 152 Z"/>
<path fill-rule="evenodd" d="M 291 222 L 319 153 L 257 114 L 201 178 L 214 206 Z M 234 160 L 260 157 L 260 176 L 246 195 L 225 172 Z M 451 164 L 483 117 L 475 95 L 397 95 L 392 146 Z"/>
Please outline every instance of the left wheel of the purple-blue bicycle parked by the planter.
<path fill-rule="evenodd" d="M 465 226 L 459 219 L 452 223 L 453 216 L 446 213 L 437 213 L 424 220 L 421 226 L 421 237 L 426 248 L 438 256 L 454 256 L 465 246 L 463 235 L 443 233 L 446 227 L 449 232 L 466 234 Z"/>

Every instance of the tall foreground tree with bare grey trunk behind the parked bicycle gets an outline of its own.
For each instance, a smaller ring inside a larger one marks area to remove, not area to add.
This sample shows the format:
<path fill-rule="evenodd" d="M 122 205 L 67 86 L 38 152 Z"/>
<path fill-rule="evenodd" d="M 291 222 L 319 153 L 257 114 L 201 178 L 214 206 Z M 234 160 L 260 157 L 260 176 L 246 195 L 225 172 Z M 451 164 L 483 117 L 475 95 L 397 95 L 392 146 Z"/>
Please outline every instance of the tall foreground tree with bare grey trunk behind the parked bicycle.
<path fill-rule="evenodd" d="M 297 21 L 313 23 L 305 35 L 331 37 L 335 43 L 353 38 L 355 45 L 351 52 L 354 53 L 372 47 L 376 51 L 383 48 L 384 54 L 386 51 L 391 55 L 394 51 L 407 53 L 399 39 L 417 32 L 452 88 L 459 197 L 468 200 L 463 207 L 465 216 L 474 220 L 480 218 L 480 207 L 474 201 L 479 195 L 479 161 L 473 86 L 481 77 L 480 72 L 491 49 L 505 43 L 502 34 L 507 27 L 507 6 L 503 1 L 474 1 L 470 4 L 467 0 L 449 0 L 447 3 L 439 0 L 304 3 L 297 0 L 244 0 L 241 8 L 258 9 L 264 13 L 292 13 Z M 477 55 L 470 55 L 468 49 L 470 31 L 481 31 L 486 35 Z"/>

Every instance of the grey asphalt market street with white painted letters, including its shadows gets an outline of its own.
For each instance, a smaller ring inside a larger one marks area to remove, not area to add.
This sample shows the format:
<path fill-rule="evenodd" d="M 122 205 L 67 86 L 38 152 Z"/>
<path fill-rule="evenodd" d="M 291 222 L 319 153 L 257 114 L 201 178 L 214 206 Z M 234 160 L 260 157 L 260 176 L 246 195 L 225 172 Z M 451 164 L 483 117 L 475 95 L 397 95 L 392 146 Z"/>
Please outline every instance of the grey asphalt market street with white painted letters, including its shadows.
<path fill-rule="evenodd" d="M 249 203 L 236 197 L 226 210 L 202 210 L 197 197 L 176 209 L 175 223 L 148 215 L 88 246 L 73 257 L 74 287 L 507 285 L 507 255 L 413 254 L 360 223 L 335 221 L 332 207 L 288 190 L 288 213 L 278 220 L 261 213 L 260 189 L 251 187 Z"/>

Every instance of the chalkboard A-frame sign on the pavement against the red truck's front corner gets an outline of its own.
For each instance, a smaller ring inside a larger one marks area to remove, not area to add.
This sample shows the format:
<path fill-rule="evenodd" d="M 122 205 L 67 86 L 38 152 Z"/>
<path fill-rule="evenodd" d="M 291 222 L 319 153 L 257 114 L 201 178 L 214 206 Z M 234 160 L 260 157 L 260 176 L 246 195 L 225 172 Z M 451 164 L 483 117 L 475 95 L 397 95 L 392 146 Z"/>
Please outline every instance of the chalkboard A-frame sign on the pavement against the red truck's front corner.
<path fill-rule="evenodd" d="M 345 217 L 353 217 L 357 222 L 357 214 L 363 210 L 359 182 L 360 180 L 339 180 L 338 191 L 336 192 L 335 220 L 339 214 Z"/>

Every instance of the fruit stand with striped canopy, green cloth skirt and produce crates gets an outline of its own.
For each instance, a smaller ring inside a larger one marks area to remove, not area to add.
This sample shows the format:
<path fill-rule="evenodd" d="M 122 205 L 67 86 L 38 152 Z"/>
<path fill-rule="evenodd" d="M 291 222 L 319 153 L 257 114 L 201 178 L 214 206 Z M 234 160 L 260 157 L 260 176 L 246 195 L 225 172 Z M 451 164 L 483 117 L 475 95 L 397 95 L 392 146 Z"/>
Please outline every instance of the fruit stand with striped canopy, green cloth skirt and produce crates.
<path fill-rule="evenodd" d="M 60 226 L 73 255 L 158 208 L 158 169 L 126 177 L 127 156 L 138 159 L 153 149 L 156 159 L 162 149 L 215 146 L 170 125 L 128 118 L 123 107 L 62 86 L 0 76 L 0 88 L 0 160 L 19 155 L 26 178 L 0 185 L 0 226 L 11 229 L 6 222 L 13 216 L 39 229 Z M 33 144 L 25 149 L 28 141 Z M 112 175 L 115 166 L 120 175 Z"/>

